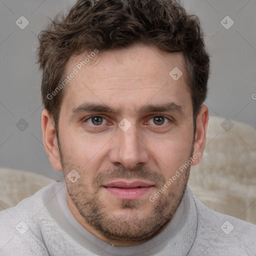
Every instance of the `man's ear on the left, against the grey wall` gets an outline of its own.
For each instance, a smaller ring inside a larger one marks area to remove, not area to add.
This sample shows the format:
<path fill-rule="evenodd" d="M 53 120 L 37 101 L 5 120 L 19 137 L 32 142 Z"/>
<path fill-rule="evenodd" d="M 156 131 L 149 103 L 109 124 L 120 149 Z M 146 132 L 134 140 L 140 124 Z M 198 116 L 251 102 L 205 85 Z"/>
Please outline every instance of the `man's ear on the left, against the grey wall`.
<path fill-rule="evenodd" d="M 61 170 L 54 122 L 46 109 L 42 111 L 42 140 L 52 167 L 56 170 Z"/>

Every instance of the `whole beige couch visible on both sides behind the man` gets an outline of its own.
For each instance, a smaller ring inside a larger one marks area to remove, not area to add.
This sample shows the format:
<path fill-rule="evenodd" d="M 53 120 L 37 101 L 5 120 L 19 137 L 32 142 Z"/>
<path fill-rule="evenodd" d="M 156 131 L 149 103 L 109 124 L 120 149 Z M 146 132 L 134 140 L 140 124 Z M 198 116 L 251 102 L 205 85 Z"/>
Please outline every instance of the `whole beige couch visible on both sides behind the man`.
<path fill-rule="evenodd" d="M 0 210 L 53 182 L 36 173 L 0 169 Z M 256 130 L 210 117 L 203 159 L 191 166 L 188 186 L 210 208 L 256 224 Z"/>

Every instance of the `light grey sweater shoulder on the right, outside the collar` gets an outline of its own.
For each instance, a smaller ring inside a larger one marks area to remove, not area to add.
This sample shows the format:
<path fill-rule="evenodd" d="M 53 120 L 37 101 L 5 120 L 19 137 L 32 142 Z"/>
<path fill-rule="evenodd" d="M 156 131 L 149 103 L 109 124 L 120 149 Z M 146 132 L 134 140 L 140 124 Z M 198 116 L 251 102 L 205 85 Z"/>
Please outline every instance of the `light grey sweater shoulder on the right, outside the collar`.
<path fill-rule="evenodd" d="M 256 254 L 256 225 L 213 211 L 196 197 L 194 200 L 197 208 L 195 246 L 204 249 L 206 254 L 202 255 Z"/>

